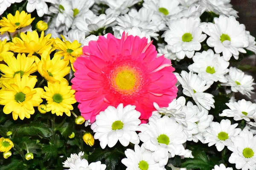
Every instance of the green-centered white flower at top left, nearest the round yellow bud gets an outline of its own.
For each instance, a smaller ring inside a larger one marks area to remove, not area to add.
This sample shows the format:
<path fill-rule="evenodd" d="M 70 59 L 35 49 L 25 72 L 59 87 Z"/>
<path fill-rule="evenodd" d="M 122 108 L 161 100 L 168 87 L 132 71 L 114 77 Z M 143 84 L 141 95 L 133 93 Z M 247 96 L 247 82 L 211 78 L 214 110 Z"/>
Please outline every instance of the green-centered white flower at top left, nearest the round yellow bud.
<path fill-rule="evenodd" d="M 55 4 L 50 6 L 49 11 L 56 14 L 55 26 L 59 27 L 61 24 L 65 25 L 66 31 L 71 27 L 73 22 L 73 10 L 70 0 L 58 0 Z"/>

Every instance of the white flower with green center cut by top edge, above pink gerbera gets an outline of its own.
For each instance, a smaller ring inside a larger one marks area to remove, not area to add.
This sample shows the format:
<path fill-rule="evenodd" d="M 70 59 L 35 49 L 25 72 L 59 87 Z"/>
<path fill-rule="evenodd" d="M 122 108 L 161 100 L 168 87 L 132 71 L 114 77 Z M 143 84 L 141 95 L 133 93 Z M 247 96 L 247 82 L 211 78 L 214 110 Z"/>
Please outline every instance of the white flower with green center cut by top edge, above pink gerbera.
<path fill-rule="evenodd" d="M 178 0 L 144 0 L 143 6 L 163 17 L 170 17 L 181 11 Z"/>

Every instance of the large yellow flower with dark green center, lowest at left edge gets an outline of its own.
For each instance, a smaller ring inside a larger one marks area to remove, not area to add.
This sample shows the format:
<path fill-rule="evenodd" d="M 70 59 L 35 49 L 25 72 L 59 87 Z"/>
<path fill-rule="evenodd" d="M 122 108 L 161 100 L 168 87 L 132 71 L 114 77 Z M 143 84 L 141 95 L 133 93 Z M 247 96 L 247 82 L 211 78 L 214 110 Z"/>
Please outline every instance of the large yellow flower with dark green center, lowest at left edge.
<path fill-rule="evenodd" d="M 20 73 L 14 77 L 14 84 L 3 83 L 6 88 L 0 90 L 0 105 L 4 105 L 3 113 L 12 113 L 14 120 L 20 117 L 30 118 L 35 113 L 34 107 L 38 107 L 43 100 L 41 95 L 44 94 L 42 88 L 34 88 L 37 79 L 23 75 L 20 79 Z"/>

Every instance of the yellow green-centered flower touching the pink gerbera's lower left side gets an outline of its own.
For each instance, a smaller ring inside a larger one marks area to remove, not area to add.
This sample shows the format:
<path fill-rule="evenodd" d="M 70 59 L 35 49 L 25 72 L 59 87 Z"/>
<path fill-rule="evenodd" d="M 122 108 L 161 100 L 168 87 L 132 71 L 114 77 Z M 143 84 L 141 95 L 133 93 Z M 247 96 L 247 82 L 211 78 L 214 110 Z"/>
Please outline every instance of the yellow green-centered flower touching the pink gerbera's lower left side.
<path fill-rule="evenodd" d="M 72 104 L 76 103 L 75 90 L 71 89 L 66 81 L 56 81 L 54 84 L 48 82 L 48 87 L 44 86 L 43 98 L 47 100 L 46 111 L 62 116 L 65 113 L 70 116 L 73 110 Z"/>

